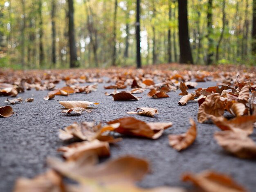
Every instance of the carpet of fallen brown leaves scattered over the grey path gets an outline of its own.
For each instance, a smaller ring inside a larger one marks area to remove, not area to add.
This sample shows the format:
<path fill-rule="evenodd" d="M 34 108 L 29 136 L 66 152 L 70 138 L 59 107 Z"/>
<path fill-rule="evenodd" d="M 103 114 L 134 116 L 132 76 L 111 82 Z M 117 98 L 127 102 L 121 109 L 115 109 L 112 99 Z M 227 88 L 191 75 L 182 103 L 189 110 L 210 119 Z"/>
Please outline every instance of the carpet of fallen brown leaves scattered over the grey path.
<path fill-rule="evenodd" d="M 184 67 L 184 66 L 183 66 Z M 187 67 L 187 66 L 185 66 Z M 193 101 L 198 102 L 198 122 L 205 123 L 212 121 L 222 129 L 217 132 L 214 138 L 227 151 L 241 158 L 255 158 L 256 144 L 249 138 L 256 121 L 255 104 L 255 73 L 247 73 L 245 69 L 240 71 L 241 76 L 237 80 L 236 72 L 223 69 L 222 71 L 197 70 L 187 71 L 166 70 L 167 66 L 161 66 L 161 69 L 154 67 L 148 69 L 106 69 L 97 71 L 52 71 L 47 73 L 33 72 L 22 76 L 19 71 L 13 72 L 13 76 L 7 78 L 8 73 L 1 73 L 0 83 L 12 85 L 12 89 L 19 92 L 20 83 L 24 90 L 35 88 L 36 90 L 46 90 L 52 95 L 68 96 L 75 93 L 90 93 L 96 91 L 97 85 L 80 86 L 80 83 L 102 83 L 103 76 L 108 77 L 112 89 L 116 89 L 111 94 L 113 102 L 115 100 L 137 100 L 134 96 L 137 92 L 142 93 L 146 89 L 148 100 L 159 98 L 168 99 L 168 92 L 181 90 L 182 98 L 179 105 L 186 105 Z M 211 72 L 210 72 L 211 71 Z M 18 75 L 21 77 L 17 80 Z M 36 80 L 37 79 L 37 80 Z M 189 93 L 189 88 L 195 88 L 198 84 L 195 81 L 203 82 L 215 80 L 221 82 L 221 87 L 198 88 L 194 93 Z M 56 89 L 55 84 L 64 80 L 66 85 L 63 88 Z M 18 85 L 17 85 L 18 84 Z M 50 86 L 49 86 L 50 85 Z M 130 87 L 131 91 L 118 92 L 117 89 Z M 109 87 L 105 87 L 108 89 Z M 4 89 L 4 88 L 3 88 Z M 2 89 L 1 89 L 2 90 Z M 3 92 L 6 94 L 6 92 Z M 11 94 L 9 95 L 11 96 Z M 42 98 L 43 99 L 43 98 Z M 47 100 L 46 98 L 44 98 Z M 47 101 L 45 101 L 47 102 Z M 81 114 L 88 111 L 87 107 L 91 104 L 99 103 L 89 101 L 59 101 L 61 105 L 67 108 L 63 112 Z M 6 108 L 6 109 L 3 109 Z M 2 112 L 4 111 L 5 112 Z M 225 117 L 225 110 L 234 116 L 228 120 Z M 14 112 L 10 106 L 0 107 L 1 116 L 11 116 Z M 135 112 L 128 114 L 144 115 L 154 118 L 158 114 L 156 108 L 138 107 Z M 185 150 L 196 139 L 197 128 L 195 121 L 190 119 L 191 127 L 184 134 L 169 135 L 169 144 L 177 151 Z M 171 127 L 171 122 L 145 122 L 132 116 L 121 117 L 109 121 L 106 125 L 101 123 L 83 121 L 73 123 L 60 129 L 59 138 L 63 141 L 73 142 L 70 145 L 60 147 L 59 152 L 63 153 L 65 161 L 54 158 L 48 158 L 47 163 L 51 169 L 34 179 L 20 178 L 16 182 L 16 191 L 185 191 L 182 188 L 160 187 L 154 189 L 141 189 L 135 185 L 149 171 L 149 163 L 144 159 L 132 156 L 119 157 L 108 162 L 97 164 L 98 158 L 110 156 L 111 144 L 121 140 L 113 136 L 113 132 L 122 135 L 144 137 L 157 139 L 162 136 L 165 129 Z M 115 135 L 116 136 L 116 135 Z M 79 185 L 71 185 L 63 181 L 63 177 L 68 177 L 76 181 Z M 207 171 L 200 174 L 186 173 L 182 176 L 183 181 L 191 181 L 203 191 L 245 191 L 243 187 L 236 184 L 226 175 Z M 125 187 L 124 187 L 125 186 Z"/>

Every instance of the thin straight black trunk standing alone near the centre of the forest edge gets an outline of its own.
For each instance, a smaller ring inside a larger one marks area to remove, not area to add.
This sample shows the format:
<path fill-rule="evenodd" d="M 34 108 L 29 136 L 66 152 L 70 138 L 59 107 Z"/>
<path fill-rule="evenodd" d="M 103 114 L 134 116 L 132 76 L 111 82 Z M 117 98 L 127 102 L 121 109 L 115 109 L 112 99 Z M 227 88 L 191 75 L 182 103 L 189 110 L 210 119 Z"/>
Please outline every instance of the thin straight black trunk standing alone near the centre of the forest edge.
<path fill-rule="evenodd" d="M 137 14 L 136 14 L 136 47 L 137 47 L 137 68 L 141 68 L 141 55 L 140 55 L 140 20 L 139 20 L 139 9 L 140 0 L 137 0 Z"/>

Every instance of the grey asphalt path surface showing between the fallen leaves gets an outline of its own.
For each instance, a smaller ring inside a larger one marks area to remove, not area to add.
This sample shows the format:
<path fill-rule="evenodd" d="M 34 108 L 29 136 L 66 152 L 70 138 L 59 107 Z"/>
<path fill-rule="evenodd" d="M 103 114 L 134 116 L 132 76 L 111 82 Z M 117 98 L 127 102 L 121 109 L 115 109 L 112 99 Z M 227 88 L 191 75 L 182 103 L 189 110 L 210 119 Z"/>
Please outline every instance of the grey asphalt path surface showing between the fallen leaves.
<path fill-rule="evenodd" d="M 61 83 L 58 87 L 63 85 Z M 99 84 L 97 92 L 72 94 L 68 97 L 56 96 L 48 101 L 43 100 L 48 91 L 31 90 L 18 95 L 23 99 L 33 97 L 34 102 L 13 105 L 17 116 L 0 118 L 0 192 L 12 191 L 16 179 L 20 176 L 32 178 L 45 172 L 47 156 L 61 158 L 56 149 L 65 143 L 58 138 L 58 129 L 63 129 L 74 121 L 98 123 L 132 116 L 126 112 L 134 111 L 137 107 L 155 107 L 159 111 L 155 118 L 133 115 L 142 121 L 173 122 L 173 126 L 166 129 L 157 140 L 123 136 L 121 142 L 111 146 L 110 159 L 130 154 L 150 162 L 151 173 L 138 183 L 139 186 L 150 188 L 167 185 L 190 188 L 191 183 L 180 181 L 182 173 L 198 173 L 210 169 L 228 174 L 247 190 L 256 191 L 256 162 L 227 154 L 213 138 L 214 132 L 219 130 L 215 125 L 197 123 L 198 135 L 195 142 L 182 152 L 177 152 L 169 146 L 168 134 L 186 132 L 190 127 L 189 117 L 196 121 L 198 103 L 178 105 L 181 97 L 178 96 L 179 90 L 168 93 L 169 98 L 149 98 L 146 96 L 147 90 L 136 94 L 142 97 L 139 101 L 113 101 L 112 96 L 104 95 L 104 92 L 113 90 L 105 90 L 104 85 L 107 84 Z M 198 87 L 214 85 L 216 83 L 207 82 L 199 83 Z M 0 97 L 0 106 L 6 105 L 6 98 Z M 63 106 L 56 100 L 86 100 L 100 105 L 95 105 L 91 113 L 67 116 L 61 113 Z M 256 141 L 255 132 L 251 138 Z"/>

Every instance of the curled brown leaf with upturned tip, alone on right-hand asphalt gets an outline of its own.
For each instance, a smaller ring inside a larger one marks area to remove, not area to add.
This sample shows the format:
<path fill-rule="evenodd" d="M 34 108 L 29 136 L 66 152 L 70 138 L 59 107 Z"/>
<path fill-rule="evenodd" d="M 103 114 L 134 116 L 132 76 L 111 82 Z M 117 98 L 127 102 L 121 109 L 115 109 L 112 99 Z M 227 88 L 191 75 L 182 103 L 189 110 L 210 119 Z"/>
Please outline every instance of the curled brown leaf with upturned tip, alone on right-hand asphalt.
<path fill-rule="evenodd" d="M 192 118 L 190 118 L 189 122 L 191 124 L 191 127 L 186 133 L 178 135 L 168 135 L 169 144 L 177 151 L 186 149 L 195 141 L 197 134 L 196 124 Z"/>

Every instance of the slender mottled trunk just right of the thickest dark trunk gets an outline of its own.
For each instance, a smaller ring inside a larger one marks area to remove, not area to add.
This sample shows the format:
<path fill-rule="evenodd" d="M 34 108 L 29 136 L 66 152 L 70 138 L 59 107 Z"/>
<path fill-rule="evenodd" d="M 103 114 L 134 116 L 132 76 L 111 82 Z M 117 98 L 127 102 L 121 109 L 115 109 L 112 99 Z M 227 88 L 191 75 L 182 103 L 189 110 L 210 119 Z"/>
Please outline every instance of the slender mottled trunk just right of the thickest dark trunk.
<path fill-rule="evenodd" d="M 208 50 L 207 50 L 207 65 L 213 63 L 213 29 L 212 29 L 212 2 L 213 0 L 208 0 L 207 9 L 207 38 L 208 38 Z"/>

